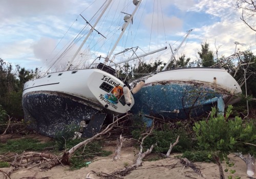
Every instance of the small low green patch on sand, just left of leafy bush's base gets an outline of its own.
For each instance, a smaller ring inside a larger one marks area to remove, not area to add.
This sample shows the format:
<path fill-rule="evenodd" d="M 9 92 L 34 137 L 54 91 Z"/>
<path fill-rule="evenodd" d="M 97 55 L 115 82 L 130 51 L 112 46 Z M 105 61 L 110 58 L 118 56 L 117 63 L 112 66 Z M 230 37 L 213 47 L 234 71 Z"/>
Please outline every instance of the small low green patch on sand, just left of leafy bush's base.
<path fill-rule="evenodd" d="M 177 155 L 176 158 L 187 158 L 192 162 L 214 162 L 211 154 L 208 150 L 190 151 L 183 152 L 182 155 Z"/>

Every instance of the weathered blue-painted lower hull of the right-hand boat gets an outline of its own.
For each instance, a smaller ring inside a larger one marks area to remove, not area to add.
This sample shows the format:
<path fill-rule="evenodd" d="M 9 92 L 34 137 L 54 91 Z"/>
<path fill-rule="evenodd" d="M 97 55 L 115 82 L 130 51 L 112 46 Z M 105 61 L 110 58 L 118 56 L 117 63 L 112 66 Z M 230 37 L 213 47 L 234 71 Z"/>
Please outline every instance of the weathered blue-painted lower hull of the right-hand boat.
<path fill-rule="evenodd" d="M 187 119 L 200 116 L 217 104 L 221 93 L 198 83 L 153 84 L 134 94 L 133 114 L 159 118 Z"/>

